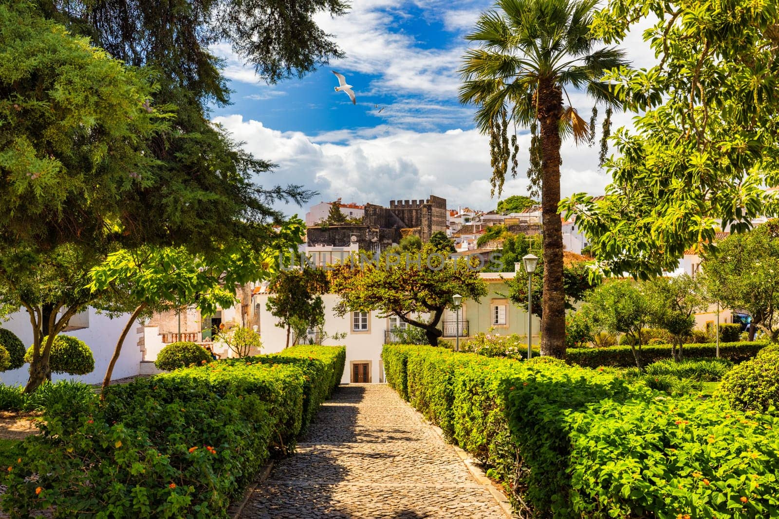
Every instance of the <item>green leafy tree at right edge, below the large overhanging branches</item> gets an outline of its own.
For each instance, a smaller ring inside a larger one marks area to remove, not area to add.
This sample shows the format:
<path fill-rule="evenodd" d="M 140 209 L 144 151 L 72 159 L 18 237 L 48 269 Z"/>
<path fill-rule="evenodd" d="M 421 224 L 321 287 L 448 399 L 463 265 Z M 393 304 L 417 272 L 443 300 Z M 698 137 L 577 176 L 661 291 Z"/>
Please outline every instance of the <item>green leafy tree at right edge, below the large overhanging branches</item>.
<path fill-rule="evenodd" d="M 779 219 L 744 234 L 731 234 L 717 249 L 703 255 L 703 273 L 710 295 L 722 306 L 743 309 L 753 328 L 779 340 Z M 750 340 L 754 335 L 750 337 Z"/>

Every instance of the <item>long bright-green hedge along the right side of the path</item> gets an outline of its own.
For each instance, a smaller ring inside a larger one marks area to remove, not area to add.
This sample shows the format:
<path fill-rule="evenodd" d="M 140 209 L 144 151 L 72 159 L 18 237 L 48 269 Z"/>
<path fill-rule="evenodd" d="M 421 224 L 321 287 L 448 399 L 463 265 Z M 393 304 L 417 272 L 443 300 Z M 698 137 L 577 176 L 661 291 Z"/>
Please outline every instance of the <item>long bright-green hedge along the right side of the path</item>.
<path fill-rule="evenodd" d="M 383 359 L 523 517 L 521 503 L 534 517 L 779 517 L 779 419 L 560 363 L 405 345 Z"/>

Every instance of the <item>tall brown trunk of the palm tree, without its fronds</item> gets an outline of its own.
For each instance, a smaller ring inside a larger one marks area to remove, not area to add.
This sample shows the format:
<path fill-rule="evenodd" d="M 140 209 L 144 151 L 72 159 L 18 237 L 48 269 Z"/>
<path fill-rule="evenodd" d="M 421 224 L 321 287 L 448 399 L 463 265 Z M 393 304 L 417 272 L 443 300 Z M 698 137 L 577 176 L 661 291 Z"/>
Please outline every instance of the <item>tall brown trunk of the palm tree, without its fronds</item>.
<path fill-rule="evenodd" d="M 541 317 L 541 355 L 566 357 L 566 293 L 562 282 L 562 220 L 560 203 L 559 123 L 562 91 L 554 83 L 538 82 L 538 121 L 541 123 L 541 215 L 544 233 L 544 299 Z"/>

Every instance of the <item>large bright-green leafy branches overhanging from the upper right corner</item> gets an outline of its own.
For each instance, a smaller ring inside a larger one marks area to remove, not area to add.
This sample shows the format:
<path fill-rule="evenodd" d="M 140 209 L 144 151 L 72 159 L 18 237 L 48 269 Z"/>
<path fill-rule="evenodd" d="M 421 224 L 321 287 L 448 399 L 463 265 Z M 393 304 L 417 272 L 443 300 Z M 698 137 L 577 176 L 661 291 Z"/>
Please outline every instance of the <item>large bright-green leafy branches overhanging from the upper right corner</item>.
<path fill-rule="evenodd" d="M 617 41 L 647 19 L 657 64 L 607 78 L 638 114 L 635 130 L 616 132 L 612 184 L 603 199 L 564 205 L 608 270 L 644 279 L 675 269 L 689 247 L 713 247 L 717 227 L 743 232 L 776 215 L 763 185 L 779 174 L 776 2 L 615 0 L 592 30 Z"/>

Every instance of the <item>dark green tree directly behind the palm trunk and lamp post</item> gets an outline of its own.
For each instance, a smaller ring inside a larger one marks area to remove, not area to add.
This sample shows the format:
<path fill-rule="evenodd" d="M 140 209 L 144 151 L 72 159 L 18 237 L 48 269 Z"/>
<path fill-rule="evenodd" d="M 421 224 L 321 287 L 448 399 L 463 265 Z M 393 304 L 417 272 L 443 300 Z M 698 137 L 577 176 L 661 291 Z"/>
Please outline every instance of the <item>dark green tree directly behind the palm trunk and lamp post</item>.
<path fill-rule="evenodd" d="M 522 261 L 522 257 L 520 256 L 517 261 Z M 533 273 L 531 292 L 533 297 L 533 314 L 541 319 L 544 318 L 545 310 L 544 305 L 541 304 L 544 299 L 545 288 L 543 272 L 544 261 L 539 260 L 536 271 Z M 566 310 L 576 310 L 574 304 L 585 299 L 587 293 L 600 285 L 600 283 L 600 276 L 585 261 L 577 261 L 563 267 L 562 286 L 563 290 L 565 290 Z M 527 272 L 525 272 L 525 269 L 520 267 L 516 271 L 514 278 L 509 279 L 506 285 L 509 286 L 509 300 L 527 312 Z"/>

